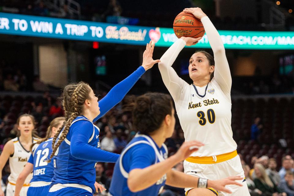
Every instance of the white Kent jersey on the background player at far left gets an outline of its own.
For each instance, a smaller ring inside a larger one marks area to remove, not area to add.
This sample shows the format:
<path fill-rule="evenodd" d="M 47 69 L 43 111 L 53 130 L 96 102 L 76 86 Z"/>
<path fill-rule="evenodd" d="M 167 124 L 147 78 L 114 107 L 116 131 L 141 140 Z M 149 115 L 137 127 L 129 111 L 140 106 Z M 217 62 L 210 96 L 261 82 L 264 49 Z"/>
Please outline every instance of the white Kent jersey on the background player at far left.
<path fill-rule="evenodd" d="M 37 140 L 38 138 L 33 138 L 33 143 L 36 143 Z M 8 181 L 10 183 L 16 184 L 17 177 L 24 169 L 25 164 L 27 164 L 28 159 L 31 156 L 31 152 L 24 149 L 18 137 L 12 139 L 12 141 L 14 146 L 14 153 L 13 156 L 9 157 L 10 175 L 8 176 Z M 25 184 L 29 184 L 32 177 L 33 173 L 30 173 L 25 179 Z"/>

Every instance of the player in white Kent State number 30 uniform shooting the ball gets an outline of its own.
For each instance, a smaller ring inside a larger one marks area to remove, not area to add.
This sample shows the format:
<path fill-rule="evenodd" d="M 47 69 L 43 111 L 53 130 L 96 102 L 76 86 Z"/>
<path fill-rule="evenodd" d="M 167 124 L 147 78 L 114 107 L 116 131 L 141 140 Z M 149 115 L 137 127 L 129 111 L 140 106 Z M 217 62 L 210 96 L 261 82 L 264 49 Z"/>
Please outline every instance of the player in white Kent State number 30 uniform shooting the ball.
<path fill-rule="evenodd" d="M 164 85 L 175 101 L 185 141 L 198 140 L 205 146 L 184 161 L 186 174 L 217 180 L 239 175 L 242 187 L 229 185 L 232 194 L 212 188 L 185 188 L 186 195 L 249 196 L 237 144 L 232 138 L 232 77 L 224 44 L 217 29 L 200 8 L 186 8 L 187 14 L 201 20 L 213 55 L 195 52 L 189 60 L 189 76 L 193 83 L 182 80 L 171 67 L 183 47 L 196 44 L 201 37 L 181 37 L 160 58 L 158 65 Z"/>

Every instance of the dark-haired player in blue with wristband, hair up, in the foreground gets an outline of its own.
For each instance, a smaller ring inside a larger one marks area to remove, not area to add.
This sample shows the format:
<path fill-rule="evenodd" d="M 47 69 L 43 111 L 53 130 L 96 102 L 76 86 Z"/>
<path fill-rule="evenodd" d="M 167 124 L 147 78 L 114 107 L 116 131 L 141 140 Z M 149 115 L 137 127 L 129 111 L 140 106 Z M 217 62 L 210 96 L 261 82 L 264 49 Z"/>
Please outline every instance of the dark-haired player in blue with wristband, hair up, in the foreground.
<path fill-rule="evenodd" d="M 175 155 L 168 157 L 166 138 L 175 129 L 175 110 L 171 97 L 163 93 L 146 93 L 126 106 L 133 113 L 133 124 L 138 134 L 130 141 L 117 160 L 109 192 L 112 196 L 156 196 L 164 185 L 173 187 L 213 187 L 231 192 L 225 185 L 235 184 L 242 177 L 207 180 L 175 171 L 172 168 L 203 144 L 198 141 L 183 143 Z"/>

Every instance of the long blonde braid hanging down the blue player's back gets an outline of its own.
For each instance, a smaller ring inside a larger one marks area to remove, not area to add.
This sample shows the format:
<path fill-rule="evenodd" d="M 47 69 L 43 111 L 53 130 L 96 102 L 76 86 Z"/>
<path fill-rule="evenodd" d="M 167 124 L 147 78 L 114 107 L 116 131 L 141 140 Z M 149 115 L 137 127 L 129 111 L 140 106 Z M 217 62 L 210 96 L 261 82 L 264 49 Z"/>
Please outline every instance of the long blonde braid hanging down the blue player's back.
<path fill-rule="evenodd" d="M 61 142 L 66 138 L 66 135 L 68 133 L 68 131 L 70 130 L 70 124 L 74 121 L 75 118 L 77 118 L 77 116 L 79 115 L 79 101 L 78 101 L 78 95 L 79 95 L 79 92 L 81 90 L 81 88 L 83 87 L 84 83 L 80 83 L 75 89 L 74 89 L 74 92 L 71 96 L 71 103 L 70 105 L 72 106 L 72 112 L 70 114 L 70 118 L 66 120 L 66 124 L 64 126 L 64 129 L 62 131 L 62 134 L 60 135 L 56 145 L 55 145 L 55 141 L 58 137 L 58 135 L 60 134 L 60 131 L 61 130 L 58 130 L 58 132 L 55 134 L 54 138 L 53 138 L 53 141 L 52 141 L 52 153 L 51 153 L 51 156 L 50 156 L 50 159 L 49 161 L 52 159 L 52 157 L 54 156 L 56 150 L 58 149 L 58 147 L 60 146 Z M 63 105 L 66 106 L 67 105 L 67 101 L 64 101 L 63 102 Z M 64 107 L 65 109 L 67 109 L 67 107 Z M 69 115 L 69 111 L 66 110 L 66 118 L 68 117 Z M 61 128 L 61 127 L 60 127 Z"/>

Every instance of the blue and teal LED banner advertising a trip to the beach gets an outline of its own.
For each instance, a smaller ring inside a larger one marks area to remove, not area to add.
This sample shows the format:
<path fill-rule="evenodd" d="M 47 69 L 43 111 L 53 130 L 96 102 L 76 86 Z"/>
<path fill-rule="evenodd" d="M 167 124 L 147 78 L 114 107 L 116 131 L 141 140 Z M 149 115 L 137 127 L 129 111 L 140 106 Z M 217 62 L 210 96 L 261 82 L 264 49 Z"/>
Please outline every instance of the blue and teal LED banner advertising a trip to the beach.
<path fill-rule="evenodd" d="M 294 50 L 294 32 L 219 30 L 226 49 Z M 178 38 L 172 28 L 118 25 L 0 12 L 0 34 L 169 47 Z M 210 48 L 206 34 L 194 48 Z"/>

